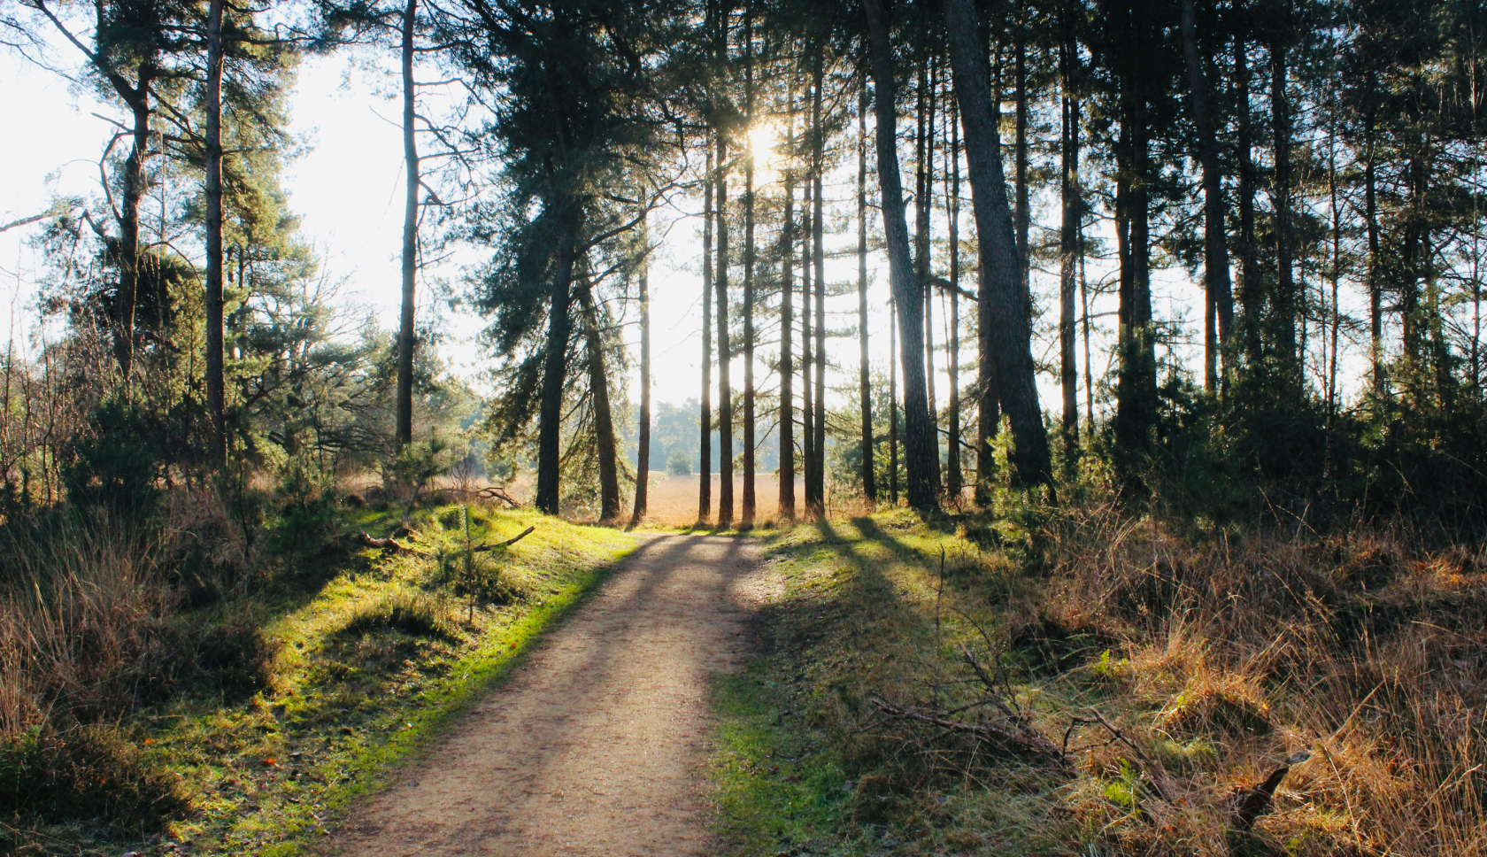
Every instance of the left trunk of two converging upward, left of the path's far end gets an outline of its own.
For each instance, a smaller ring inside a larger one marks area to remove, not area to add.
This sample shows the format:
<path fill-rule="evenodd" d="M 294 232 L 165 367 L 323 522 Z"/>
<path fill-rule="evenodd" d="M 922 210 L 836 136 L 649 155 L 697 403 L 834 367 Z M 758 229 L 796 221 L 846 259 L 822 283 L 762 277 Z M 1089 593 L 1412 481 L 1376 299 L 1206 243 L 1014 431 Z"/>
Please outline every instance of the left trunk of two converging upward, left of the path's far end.
<path fill-rule="evenodd" d="M 547 306 L 547 344 L 543 356 L 543 402 L 537 421 L 537 509 L 556 515 L 562 473 L 562 391 L 568 379 L 568 308 L 572 299 L 572 266 L 583 223 L 578 202 L 562 199 L 555 235 L 553 281 Z"/>

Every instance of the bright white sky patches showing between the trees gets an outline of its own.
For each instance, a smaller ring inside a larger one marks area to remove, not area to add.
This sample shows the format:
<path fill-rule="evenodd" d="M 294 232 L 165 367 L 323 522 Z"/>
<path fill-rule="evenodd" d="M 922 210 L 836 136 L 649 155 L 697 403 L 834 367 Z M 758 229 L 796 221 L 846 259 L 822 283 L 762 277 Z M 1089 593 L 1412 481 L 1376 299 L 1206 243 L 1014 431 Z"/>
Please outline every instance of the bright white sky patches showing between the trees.
<path fill-rule="evenodd" d="M 61 49 L 57 60 L 71 61 Z M 302 135 L 309 144 L 309 152 L 294 162 L 286 176 L 286 187 L 291 198 L 290 204 L 302 216 L 305 238 L 311 240 L 326 256 L 329 272 L 346 277 L 349 289 L 345 299 L 375 309 L 382 324 L 391 327 L 397 320 L 397 304 L 400 293 L 399 253 L 401 241 L 401 198 L 403 198 L 403 164 L 401 137 L 397 121 L 400 112 L 396 103 L 379 97 L 378 91 L 390 89 L 387 73 L 391 65 L 384 64 L 381 70 L 376 62 L 352 62 L 345 54 L 315 58 L 303 64 L 299 83 L 294 91 L 291 106 L 291 131 Z M 370 68 L 369 68 L 370 67 Z M 28 65 L 22 60 L 0 54 L 0 115 L 22 118 L 18 123 L 24 132 L 0 135 L 0 162 L 12 165 L 10 170 L 0 171 L 0 223 L 7 223 L 18 217 L 43 211 L 54 195 L 83 195 L 91 196 L 98 189 L 98 158 L 110 134 L 110 125 L 95 118 L 92 113 L 104 116 L 117 115 L 116 110 L 103 107 L 92 101 L 85 91 L 70 88 L 70 85 L 51 71 Z M 772 129 L 760 129 L 752 135 L 752 143 L 761 159 L 767 159 L 767 147 L 772 143 Z M 761 167 L 764 167 L 761 164 Z M 906 162 L 906 168 L 909 164 Z M 828 199 L 840 199 L 846 204 L 855 192 L 857 159 L 849 158 L 848 164 L 828 177 Z M 767 168 L 760 173 L 760 184 L 778 182 L 778 176 Z M 968 187 L 962 183 L 962 192 Z M 736 199 L 738 189 L 732 192 Z M 1044 199 L 1042 204 L 1050 204 Z M 1036 207 L 1036 202 L 1035 202 Z M 697 396 L 699 363 L 700 363 L 700 274 L 699 257 L 700 243 L 700 199 L 683 198 L 660 213 L 653 220 L 656 235 L 663 235 L 659 251 L 651 265 L 651 323 L 653 323 L 653 376 L 654 396 L 659 402 L 681 403 Z M 855 205 L 845 205 L 843 211 L 855 211 Z M 912 208 L 910 208 L 912 216 Z M 943 213 L 935 213 L 935 235 L 944 237 L 946 223 Z M 1047 211 L 1042 223 L 1053 223 L 1054 213 Z M 830 220 L 830 217 L 828 217 Z M 33 314 L 27 311 L 36 299 L 36 272 L 42 268 L 42 259 L 27 245 L 27 240 L 37 234 L 39 226 L 10 229 L 0 234 L 0 289 L 4 295 L 4 306 L 0 309 L 0 323 L 7 324 L 15 338 L 27 339 Z M 830 226 L 828 226 L 830 229 Z M 877 225 L 873 226 L 874 232 Z M 971 232 L 970 204 L 964 205 L 962 232 Z M 735 247 L 742 237 L 735 237 Z M 1036 240 L 1036 237 L 1035 237 Z M 857 223 L 846 222 L 839 228 L 839 234 L 827 238 L 827 253 L 834 247 L 842 250 L 855 248 Z M 436 277 L 458 280 L 459 265 L 474 260 L 477 256 L 464 254 L 442 269 L 433 271 Z M 870 277 L 873 281 L 870 292 L 871 312 L 871 353 L 874 363 L 886 372 L 888 369 L 888 277 L 886 262 L 874 254 L 870 262 Z M 1053 274 L 1035 274 L 1035 293 L 1038 302 L 1045 308 L 1044 326 L 1051 326 L 1057 312 L 1056 281 Z M 1109 266 L 1091 260 L 1088 268 L 1090 281 L 1109 275 Z M 840 260 L 828 259 L 827 278 L 833 283 L 857 283 L 857 260 L 846 256 Z M 735 274 L 735 283 L 741 274 Z M 965 277 L 968 289 L 975 287 L 974 277 Z M 1197 315 L 1194 301 L 1200 296 L 1182 271 L 1161 271 L 1154 275 L 1154 311 L 1161 318 L 1185 315 L 1193 323 L 1194 338 L 1200 339 L 1201 318 Z M 422 289 L 421 299 L 428 295 Z M 1344 295 L 1344 309 L 1349 309 Z M 1090 306 L 1091 314 L 1112 314 L 1114 299 L 1106 298 Z M 849 329 L 857 323 L 857 298 L 848 295 L 836 301 L 828 299 L 827 306 L 830 326 Z M 937 306 L 937 314 L 940 312 Z M 964 302 L 962 314 L 974 314 L 974 304 Z M 638 318 L 638 312 L 629 312 L 629 320 Z M 1099 327 L 1111 327 L 1112 320 L 1097 317 Z M 449 339 L 445 344 L 445 356 L 455 370 L 471 379 L 477 379 L 483 367 L 491 365 L 491 357 L 479 350 L 473 336 L 479 330 L 479 320 L 473 317 L 448 318 Z M 964 330 L 970 330 L 970 323 Z M 1047 365 L 1056 363 L 1054 332 L 1047 330 L 1041 342 L 1035 344 L 1035 357 Z M 630 326 L 626 338 L 636 344 L 638 330 Z M 935 341 L 943 344 L 943 317 L 935 318 Z M 974 341 L 968 333 L 962 333 L 965 351 L 962 354 L 962 382 L 970 382 L 974 362 Z M 1094 375 L 1099 379 L 1105 369 L 1103 336 L 1097 335 L 1094 342 Z M 1182 348 L 1181 353 L 1190 366 L 1199 369 L 1197 357 L 1201 342 Z M 855 400 L 857 378 L 857 342 L 855 339 L 839 338 L 828 345 L 830 357 L 846 369 L 836 381 L 851 390 Z M 1344 353 L 1344 357 L 1347 354 Z M 763 378 L 763 356 L 757 369 Z M 935 357 L 940 376 L 935 387 L 941 406 L 947 400 L 947 378 L 944 376 L 944 354 Z M 1084 353 L 1080 348 L 1080 372 L 1084 372 Z M 828 373 L 830 375 L 830 373 Z M 1353 375 L 1353 372 L 1349 372 Z M 742 366 L 733 367 L 735 384 L 742 379 Z M 632 400 L 638 400 L 636 379 L 632 379 Z M 1050 375 L 1039 376 L 1042 388 L 1042 405 L 1048 411 L 1059 408 L 1059 394 L 1054 379 Z M 1084 390 L 1080 390 L 1081 411 L 1084 408 Z"/>

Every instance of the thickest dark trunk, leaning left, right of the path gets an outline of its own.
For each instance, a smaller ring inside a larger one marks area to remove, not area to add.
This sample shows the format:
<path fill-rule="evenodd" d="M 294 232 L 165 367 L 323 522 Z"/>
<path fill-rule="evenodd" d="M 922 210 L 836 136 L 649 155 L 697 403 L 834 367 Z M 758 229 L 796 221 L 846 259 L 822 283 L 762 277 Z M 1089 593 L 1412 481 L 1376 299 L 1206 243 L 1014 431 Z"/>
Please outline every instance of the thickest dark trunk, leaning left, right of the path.
<path fill-rule="evenodd" d="M 975 0 L 944 0 L 950 36 L 955 94 L 965 128 L 965 161 L 971 179 L 971 205 L 981 251 L 986 321 L 996 330 L 992 345 L 1002 408 L 1011 423 L 1014 476 L 1019 484 L 1051 487 L 1053 466 L 1048 436 L 1038 408 L 1038 384 L 1032 360 L 1032 299 L 1019 275 L 1019 254 L 1002 176 L 1001 137 L 992 119 L 987 89 L 990 70 L 986 45 L 978 39 Z"/>

